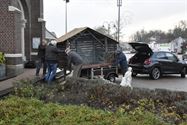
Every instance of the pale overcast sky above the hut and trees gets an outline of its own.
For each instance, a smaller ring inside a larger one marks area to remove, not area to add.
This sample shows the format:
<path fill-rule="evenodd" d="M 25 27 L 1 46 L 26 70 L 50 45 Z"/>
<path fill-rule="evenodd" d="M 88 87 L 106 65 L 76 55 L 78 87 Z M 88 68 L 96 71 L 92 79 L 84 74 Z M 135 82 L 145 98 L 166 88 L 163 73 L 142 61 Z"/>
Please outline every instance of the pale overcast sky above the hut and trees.
<path fill-rule="evenodd" d="M 57 37 L 65 33 L 64 0 L 43 0 L 46 27 Z M 70 0 L 68 31 L 78 27 L 95 28 L 118 19 L 117 0 Z M 173 29 L 180 20 L 187 20 L 187 0 L 122 0 L 123 41 L 141 29 Z"/>

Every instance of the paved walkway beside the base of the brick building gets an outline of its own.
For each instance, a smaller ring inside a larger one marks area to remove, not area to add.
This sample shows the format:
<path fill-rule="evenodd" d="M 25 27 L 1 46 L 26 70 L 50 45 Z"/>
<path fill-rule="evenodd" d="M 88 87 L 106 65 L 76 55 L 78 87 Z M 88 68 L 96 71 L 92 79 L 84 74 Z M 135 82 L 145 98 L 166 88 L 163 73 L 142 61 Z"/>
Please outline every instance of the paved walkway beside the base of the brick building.
<path fill-rule="evenodd" d="M 33 79 L 35 77 L 35 70 L 36 69 L 24 69 L 24 73 L 16 77 L 0 81 L 0 96 L 11 91 L 13 88 L 13 82 L 19 81 L 21 79 Z"/>

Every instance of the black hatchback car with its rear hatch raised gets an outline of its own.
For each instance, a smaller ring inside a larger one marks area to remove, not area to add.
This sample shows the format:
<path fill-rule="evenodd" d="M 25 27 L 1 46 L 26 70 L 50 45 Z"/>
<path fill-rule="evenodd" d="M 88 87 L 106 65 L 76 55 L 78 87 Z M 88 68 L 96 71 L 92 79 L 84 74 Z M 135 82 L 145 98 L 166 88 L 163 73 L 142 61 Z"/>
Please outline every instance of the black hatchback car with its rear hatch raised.
<path fill-rule="evenodd" d="M 147 44 L 129 43 L 136 54 L 129 59 L 129 66 L 132 67 L 132 75 L 149 74 L 152 79 L 159 79 L 162 74 L 181 74 L 185 78 L 187 64 L 179 60 L 171 52 L 153 52 Z"/>

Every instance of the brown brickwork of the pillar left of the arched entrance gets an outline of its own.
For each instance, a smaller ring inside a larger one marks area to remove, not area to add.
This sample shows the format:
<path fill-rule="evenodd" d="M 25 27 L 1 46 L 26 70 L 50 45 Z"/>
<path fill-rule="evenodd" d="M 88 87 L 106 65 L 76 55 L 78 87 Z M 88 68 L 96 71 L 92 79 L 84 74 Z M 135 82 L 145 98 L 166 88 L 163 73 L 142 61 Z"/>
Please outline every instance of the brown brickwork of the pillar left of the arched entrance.
<path fill-rule="evenodd" d="M 17 0 L 0 0 L 0 51 L 5 54 L 21 53 L 21 13 L 9 11 L 9 6 L 18 8 Z M 14 76 L 23 71 L 21 57 L 6 57 L 6 74 Z M 19 67 L 19 68 L 18 68 Z"/>

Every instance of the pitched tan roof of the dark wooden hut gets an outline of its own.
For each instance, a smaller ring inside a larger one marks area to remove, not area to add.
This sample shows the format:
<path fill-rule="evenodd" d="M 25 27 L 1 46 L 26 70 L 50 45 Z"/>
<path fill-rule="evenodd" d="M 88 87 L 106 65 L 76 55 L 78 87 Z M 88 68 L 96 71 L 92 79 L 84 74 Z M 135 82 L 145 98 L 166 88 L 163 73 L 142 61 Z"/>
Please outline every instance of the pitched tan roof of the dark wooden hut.
<path fill-rule="evenodd" d="M 104 34 L 102 34 L 102 33 L 99 33 L 98 31 L 95 31 L 95 30 L 93 30 L 93 29 L 91 29 L 91 28 L 89 28 L 89 27 L 75 28 L 75 29 L 73 29 L 72 31 L 70 31 L 70 32 L 68 32 L 68 33 L 66 33 L 66 34 L 64 34 L 63 36 L 57 38 L 56 40 L 57 40 L 57 42 L 64 42 L 64 41 L 70 39 L 71 37 L 73 37 L 73 36 L 75 36 L 75 35 L 77 35 L 77 34 L 83 32 L 83 31 L 85 31 L 85 30 L 93 31 L 93 32 L 99 34 L 100 36 L 102 35 L 102 36 L 104 36 L 104 37 L 107 37 L 107 38 L 109 38 L 109 39 L 111 39 L 111 40 L 117 42 L 116 40 L 114 40 L 114 39 L 112 39 L 112 38 L 110 38 L 110 37 L 108 37 L 108 36 L 106 36 L 106 35 L 104 35 Z"/>

